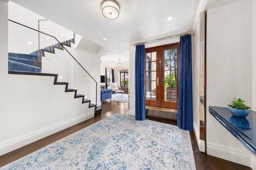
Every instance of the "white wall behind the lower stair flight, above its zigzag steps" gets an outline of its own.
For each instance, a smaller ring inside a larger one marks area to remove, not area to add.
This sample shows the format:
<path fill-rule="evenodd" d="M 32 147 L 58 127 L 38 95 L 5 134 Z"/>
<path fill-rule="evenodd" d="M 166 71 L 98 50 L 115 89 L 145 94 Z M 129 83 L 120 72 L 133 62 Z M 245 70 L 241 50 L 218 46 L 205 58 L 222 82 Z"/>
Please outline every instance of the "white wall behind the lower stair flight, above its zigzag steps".
<path fill-rule="evenodd" d="M 82 64 L 88 73 L 98 80 L 98 89 L 100 90 L 100 57 L 74 48 L 66 49 Z M 90 62 L 88 62 L 90 61 Z M 95 66 L 92 67 L 92 66 Z M 96 82 L 87 74 L 83 68 L 69 55 L 66 50 L 55 49 L 55 54 L 45 53 L 42 57 L 42 72 L 58 74 L 58 81 L 68 82 L 69 88 L 78 89 L 78 94 L 84 94 L 92 103 L 96 102 Z M 62 77 L 62 79 L 60 79 Z M 100 94 L 97 96 L 97 103 L 100 104 Z"/>

